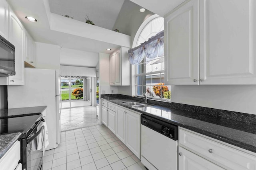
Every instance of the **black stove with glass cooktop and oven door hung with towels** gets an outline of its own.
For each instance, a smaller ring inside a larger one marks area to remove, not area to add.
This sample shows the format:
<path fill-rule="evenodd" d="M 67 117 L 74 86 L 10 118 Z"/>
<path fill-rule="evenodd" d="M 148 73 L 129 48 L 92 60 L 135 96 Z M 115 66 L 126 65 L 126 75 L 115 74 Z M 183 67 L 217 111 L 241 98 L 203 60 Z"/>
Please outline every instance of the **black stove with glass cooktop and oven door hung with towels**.
<path fill-rule="evenodd" d="M 20 132 L 20 162 L 22 169 L 41 170 L 44 146 L 33 150 L 32 143 L 42 134 L 44 121 L 41 113 L 33 113 L 34 107 L 0 110 L 0 135 Z M 36 160 L 36 161 L 34 161 Z M 37 162 L 37 163 L 36 163 Z"/>

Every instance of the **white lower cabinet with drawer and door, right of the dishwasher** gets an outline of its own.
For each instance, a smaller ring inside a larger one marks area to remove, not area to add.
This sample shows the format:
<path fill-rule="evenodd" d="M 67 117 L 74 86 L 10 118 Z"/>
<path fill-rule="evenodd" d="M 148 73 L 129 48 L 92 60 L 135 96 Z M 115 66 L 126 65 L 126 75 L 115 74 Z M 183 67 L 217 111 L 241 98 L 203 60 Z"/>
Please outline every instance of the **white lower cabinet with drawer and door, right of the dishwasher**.
<path fill-rule="evenodd" d="M 179 170 L 256 170 L 256 154 L 179 127 Z"/>

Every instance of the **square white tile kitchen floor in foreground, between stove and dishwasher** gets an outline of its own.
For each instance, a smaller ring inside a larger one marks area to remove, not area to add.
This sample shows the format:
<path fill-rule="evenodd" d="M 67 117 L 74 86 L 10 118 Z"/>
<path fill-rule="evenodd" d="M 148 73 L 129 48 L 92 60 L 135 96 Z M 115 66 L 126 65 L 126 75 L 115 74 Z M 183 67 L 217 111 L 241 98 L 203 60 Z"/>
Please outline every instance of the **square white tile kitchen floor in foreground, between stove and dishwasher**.
<path fill-rule="evenodd" d="M 62 132 L 58 148 L 45 152 L 43 169 L 146 170 L 105 125 Z"/>

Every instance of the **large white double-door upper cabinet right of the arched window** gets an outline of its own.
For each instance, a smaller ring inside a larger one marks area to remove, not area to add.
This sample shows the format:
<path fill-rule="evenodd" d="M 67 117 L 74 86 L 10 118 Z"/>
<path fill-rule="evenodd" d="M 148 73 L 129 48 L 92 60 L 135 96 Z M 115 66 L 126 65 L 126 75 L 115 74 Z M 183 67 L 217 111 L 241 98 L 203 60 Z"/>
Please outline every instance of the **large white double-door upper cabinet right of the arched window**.
<path fill-rule="evenodd" d="M 190 0 L 166 16 L 166 83 L 256 84 L 255 9 L 252 0 Z"/>

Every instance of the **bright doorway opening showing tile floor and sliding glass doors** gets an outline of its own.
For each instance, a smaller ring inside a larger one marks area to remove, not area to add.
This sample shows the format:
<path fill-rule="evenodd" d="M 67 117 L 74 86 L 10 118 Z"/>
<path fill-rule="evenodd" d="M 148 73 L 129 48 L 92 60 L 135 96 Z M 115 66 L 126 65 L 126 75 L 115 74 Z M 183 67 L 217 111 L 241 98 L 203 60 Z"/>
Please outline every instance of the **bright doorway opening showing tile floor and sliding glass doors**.
<path fill-rule="evenodd" d="M 62 131 L 100 124 L 94 93 L 95 77 L 61 76 Z"/>

